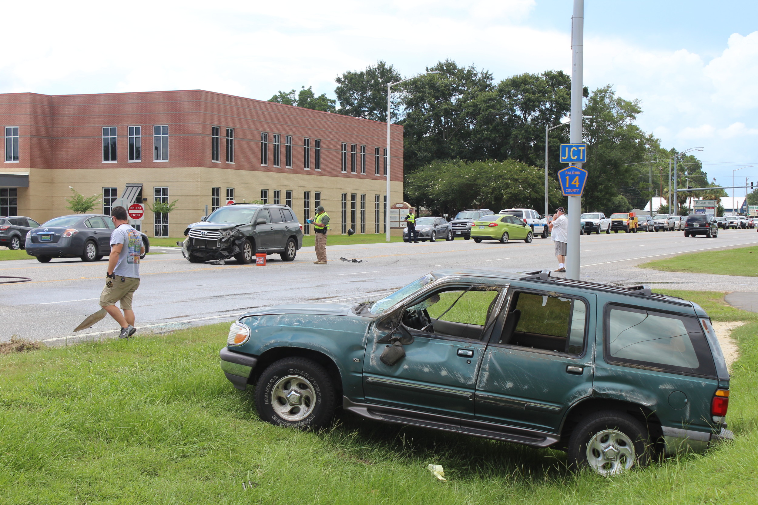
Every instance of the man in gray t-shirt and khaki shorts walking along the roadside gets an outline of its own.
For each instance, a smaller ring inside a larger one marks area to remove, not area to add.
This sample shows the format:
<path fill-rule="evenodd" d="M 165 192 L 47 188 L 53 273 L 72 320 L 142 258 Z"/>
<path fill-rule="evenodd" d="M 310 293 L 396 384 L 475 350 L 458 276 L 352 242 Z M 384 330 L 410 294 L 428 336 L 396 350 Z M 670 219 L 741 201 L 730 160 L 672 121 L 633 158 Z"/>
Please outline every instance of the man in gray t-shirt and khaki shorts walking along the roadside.
<path fill-rule="evenodd" d="M 107 279 L 100 295 L 100 306 L 121 325 L 118 338 L 129 338 L 136 332 L 132 297 L 139 288 L 139 257 L 145 252 L 145 246 L 142 235 L 129 225 L 124 207 L 113 207 L 111 220 L 116 229 L 111 233 L 111 255 L 108 257 Z M 117 302 L 121 302 L 123 315 L 116 307 Z"/>

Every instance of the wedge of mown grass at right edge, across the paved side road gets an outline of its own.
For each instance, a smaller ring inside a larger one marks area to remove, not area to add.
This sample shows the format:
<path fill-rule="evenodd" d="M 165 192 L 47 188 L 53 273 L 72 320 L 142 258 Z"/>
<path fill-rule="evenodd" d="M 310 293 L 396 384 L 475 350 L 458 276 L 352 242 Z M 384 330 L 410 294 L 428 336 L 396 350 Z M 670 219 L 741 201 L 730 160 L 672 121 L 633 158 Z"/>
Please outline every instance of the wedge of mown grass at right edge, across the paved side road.
<path fill-rule="evenodd" d="M 758 246 L 680 254 L 638 265 L 666 272 L 716 273 L 722 276 L 758 277 Z"/>

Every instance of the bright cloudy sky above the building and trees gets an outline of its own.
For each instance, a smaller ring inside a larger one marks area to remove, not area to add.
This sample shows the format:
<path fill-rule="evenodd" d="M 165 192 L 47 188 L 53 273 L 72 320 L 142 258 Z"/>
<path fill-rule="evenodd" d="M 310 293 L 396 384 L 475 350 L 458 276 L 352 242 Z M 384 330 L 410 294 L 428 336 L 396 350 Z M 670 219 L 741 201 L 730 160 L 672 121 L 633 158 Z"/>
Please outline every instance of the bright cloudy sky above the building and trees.
<path fill-rule="evenodd" d="M 208 89 L 268 99 L 378 59 L 404 75 L 450 58 L 515 73 L 571 68 L 571 0 L 11 2 L 0 92 Z M 585 0 L 584 83 L 638 98 L 666 148 L 758 182 L 758 3 Z M 738 192 L 738 195 L 740 193 Z"/>

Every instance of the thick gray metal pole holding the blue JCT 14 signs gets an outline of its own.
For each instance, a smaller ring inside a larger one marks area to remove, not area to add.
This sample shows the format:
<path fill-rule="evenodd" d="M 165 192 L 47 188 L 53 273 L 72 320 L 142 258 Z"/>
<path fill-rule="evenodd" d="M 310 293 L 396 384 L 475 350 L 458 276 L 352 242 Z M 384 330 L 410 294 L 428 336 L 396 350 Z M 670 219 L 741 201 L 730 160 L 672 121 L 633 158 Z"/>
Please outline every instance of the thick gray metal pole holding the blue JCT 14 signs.
<path fill-rule="evenodd" d="M 572 16 L 571 143 L 582 141 L 582 65 L 584 63 L 584 0 L 574 0 Z M 579 165 L 581 167 L 581 165 Z M 566 278 L 579 279 L 581 196 L 568 197 L 568 246 Z"/>

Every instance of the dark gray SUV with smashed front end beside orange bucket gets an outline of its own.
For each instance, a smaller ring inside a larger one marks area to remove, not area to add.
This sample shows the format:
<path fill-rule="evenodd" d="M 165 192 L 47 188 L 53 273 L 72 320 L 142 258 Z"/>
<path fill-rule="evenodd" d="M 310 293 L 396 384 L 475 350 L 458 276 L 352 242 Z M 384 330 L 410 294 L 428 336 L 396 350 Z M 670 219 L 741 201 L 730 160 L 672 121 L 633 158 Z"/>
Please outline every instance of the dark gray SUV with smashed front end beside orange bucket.
<path fill-rule="evenodd" d="M 192 263 L 234 258 L 251 263 L 255 253 L 295 259 L 302 248 L 302 225 L 287 205 L 234 204 L 214 210 L 184 230 L 184 257 Z"/>

